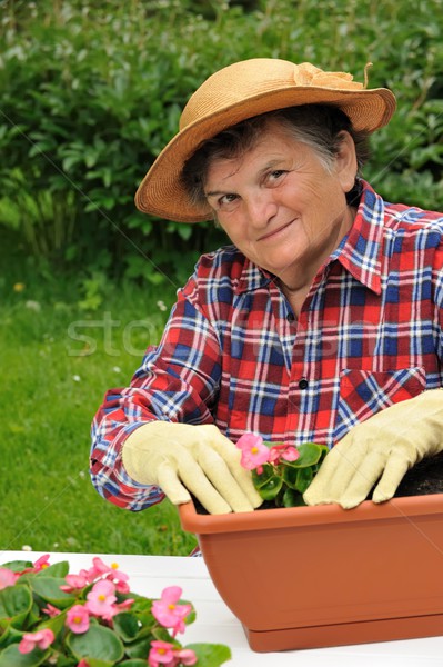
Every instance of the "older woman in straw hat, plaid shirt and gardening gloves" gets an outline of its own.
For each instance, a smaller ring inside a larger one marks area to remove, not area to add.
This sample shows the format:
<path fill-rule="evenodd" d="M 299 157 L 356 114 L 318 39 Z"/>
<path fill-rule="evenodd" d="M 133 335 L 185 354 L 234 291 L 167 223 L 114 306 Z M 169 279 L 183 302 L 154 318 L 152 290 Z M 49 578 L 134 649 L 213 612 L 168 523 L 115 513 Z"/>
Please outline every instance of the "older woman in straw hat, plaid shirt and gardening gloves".
<path fill-rule="evenodd" d="M 141 211 L 215 219 L 163 337 L 93 424 L 92 479 L 143 509 L 191 491 L 210 512 L 260 505 L 234 444 L 326 444 L 304 498 L 391 498 L 443 449 L 443 215 L 361 179 L 395 109 L 350 74 L 252 59 L 210 77 L 137 192 Z"/>

